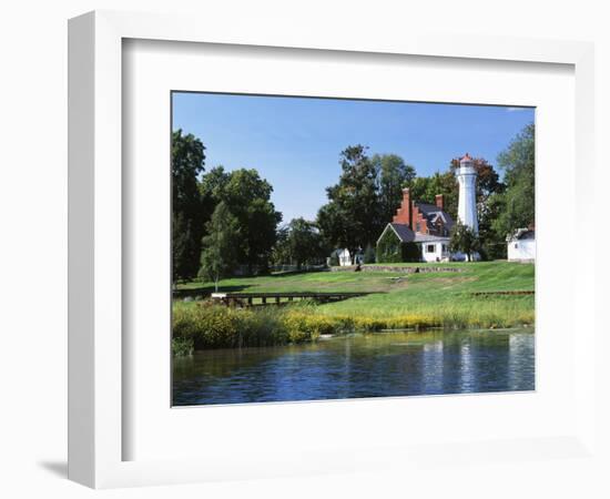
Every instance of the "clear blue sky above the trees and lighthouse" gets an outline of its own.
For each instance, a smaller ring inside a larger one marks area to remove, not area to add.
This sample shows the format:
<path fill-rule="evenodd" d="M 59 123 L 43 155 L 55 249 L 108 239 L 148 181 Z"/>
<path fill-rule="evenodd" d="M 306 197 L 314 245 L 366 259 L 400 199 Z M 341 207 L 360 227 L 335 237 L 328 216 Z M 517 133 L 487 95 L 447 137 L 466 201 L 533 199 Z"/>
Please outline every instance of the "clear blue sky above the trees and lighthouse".
<path fill-rule="evenodd" d="M 495 165 L 533 114 L 531 108 L 173 93 L 173 129 L 201 139 L 206 171 L 258 170 L 284 222 L 315 218 L 348 145 L 398 154 L 421 176 L 446 171 L 466 152 Z"/>

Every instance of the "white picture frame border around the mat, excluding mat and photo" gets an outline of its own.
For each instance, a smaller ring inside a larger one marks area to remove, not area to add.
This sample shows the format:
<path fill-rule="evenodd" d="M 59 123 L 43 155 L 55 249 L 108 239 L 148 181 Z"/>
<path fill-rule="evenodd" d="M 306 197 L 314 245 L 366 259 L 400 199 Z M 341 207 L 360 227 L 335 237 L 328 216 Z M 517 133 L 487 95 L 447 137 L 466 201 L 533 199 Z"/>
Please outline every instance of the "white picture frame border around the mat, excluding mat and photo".
<path fill-rule="evenodd" d="M 591 456 L 594 452 L 596 396 L 591 388 L 594 386 L 591 347 L 596 332 L 594 263 L 583 261 L 579 262 L 578 272 L 572 266 L 565 269 L 569 282 L 580 291 L 571 303 L 571 313 L 573 317 L 576 314 L 583 317 L 580 320 L 582 334 L 570 336 L 575 342 L 570 379 L 577 406 L 567 432 L 521 436 L 509 441 L 489 438 L 440 440 L 430 446 L 421 442 L 408 446 L 400 441 L 396 446 L 369 447 L 366 455 L 348 447 L 333 451 L 307 449 L 309 459 L 306 460 L 299 459 L 295 449 L 293 454 L 278 456 L 279 447 L 275 455 L 270 452 L 263 457 L 260 449 L 246 447 L 237 449 L 233 456 L 218 452 L 217 459 L 210 456 L 163 459 L 157 456 L 124 460 L 124 442 L 128 432 L 134 430 L 125 424 L 123 414 L 126 404 L 123 374 L 130 369 L 122 337 L 126 320 L 122 299 L 125 272 L 123 206 L 130 196 L 124 192 L 122 177 L 124 40 L 315 49 L 338 54 L 365 53 L 368 58 L 406 54 L 450 58 L 457 64 L 459 61 L 512 61 L 572 67 L 576 155 L 573 161 L 570 157 L 570 164 L 592 165 L 594 162 L 593 49 L 590 43 L 403 33 L 387 33 L 375 40 L 363 38 L 362 33 L 340 40 L 323 34 L 297 39 L 281 27 L 276 31 L 258 32 L 252 27 L 231 33 L 225 27 L 202 29 L 201 26 L 196 19 L 182 16 L 106 11 L 81 16 L 69 24 L 69 477 L 90 487 L 108 488 L 399 467 L 413 465 L 421 457 L 431 466 L 440 466 L 448 455 L 459 460 L 471 456 L 472 451 L 475 455 L 484 452 L 489 460 L 546 459 L 558 448 L 572 457 Z M 594 185 L 594 169 L 575 171 L 573 216 L 587 224 L 584 214 L 590 210 L 591 200 L 586 193 Z M 582 244 L 594 245 L 594 231 L 583 232 L 586 241 Z M 566 327 L 573 327 L 573 324 Z M 425 403 L 440 404 L 431 399 Z M 495 398 L 494 404 L 509 406 L 512 400 Z M 316 407 L 322 406 L 324 403 Z M 314 410 L 313 406 L 303 404 L 275 407 L 286 414 Z M 348 417 L 355 407 L 342 404 L 339 410 Z M 390 408 L 389 405 L 385 407 Z M 453 445 L 448 454 L 436 460 L 431 457 L 433 447 L 439 444 Z M 291 442 L 284 445 L 288 447 Z M 274 466 L 264 466 L 265 462 Z"/>

